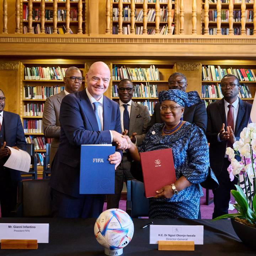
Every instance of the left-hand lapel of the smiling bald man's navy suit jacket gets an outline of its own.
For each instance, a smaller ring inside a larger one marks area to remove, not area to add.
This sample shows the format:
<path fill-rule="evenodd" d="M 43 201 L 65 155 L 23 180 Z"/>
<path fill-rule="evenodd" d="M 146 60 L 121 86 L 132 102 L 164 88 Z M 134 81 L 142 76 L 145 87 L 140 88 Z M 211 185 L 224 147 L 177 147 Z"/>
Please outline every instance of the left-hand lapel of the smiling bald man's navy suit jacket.
<path fill-rule="evenodd" d="M 91 124 L 92 130 L 97 131 L 98 130 L 97 119 L 85 89 L 79 94 L 79 99 L 81 102 L 82 109 L 84 110 L 84 113 L 86 114 L 86 117 L 88 118 Z"/>

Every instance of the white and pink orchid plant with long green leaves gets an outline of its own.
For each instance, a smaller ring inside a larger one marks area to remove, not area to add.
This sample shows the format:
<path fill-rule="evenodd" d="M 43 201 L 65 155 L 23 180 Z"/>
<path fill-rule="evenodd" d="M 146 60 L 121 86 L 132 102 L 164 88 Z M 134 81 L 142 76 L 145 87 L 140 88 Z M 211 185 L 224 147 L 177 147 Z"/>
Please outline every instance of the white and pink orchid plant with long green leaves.
<path fill-rule="evenodd" d="M 226 148 L 231 164 L 228 167 L 230 180 L 238 177 L 236 190 L 231 190 L 236 203 L 234 207 L 238 213 L 225 214 L 214 220 L 222 218 L 246 219 L 250 224 L 256 225 L 256 123 L 250 123 L 240 133 L 240 139 L 232 148 Z"/>

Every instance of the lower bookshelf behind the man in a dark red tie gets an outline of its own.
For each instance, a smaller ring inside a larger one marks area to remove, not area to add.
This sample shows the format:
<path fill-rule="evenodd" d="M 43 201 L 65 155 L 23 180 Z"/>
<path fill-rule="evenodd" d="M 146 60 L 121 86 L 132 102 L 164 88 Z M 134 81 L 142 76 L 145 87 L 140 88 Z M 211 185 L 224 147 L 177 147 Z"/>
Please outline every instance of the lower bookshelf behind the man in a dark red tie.
<path fill-rule="evenodd" d="M 225 74 L 234 74 L 239 78 L 241 90 L 239 97 L 252 103 L 256 92 L 256 63 L 249 61 L 220 61 L 202 63 L 202 91 L 201 97 L 206 105 L 223 97 L 221 93 L 220 80 Z"/>

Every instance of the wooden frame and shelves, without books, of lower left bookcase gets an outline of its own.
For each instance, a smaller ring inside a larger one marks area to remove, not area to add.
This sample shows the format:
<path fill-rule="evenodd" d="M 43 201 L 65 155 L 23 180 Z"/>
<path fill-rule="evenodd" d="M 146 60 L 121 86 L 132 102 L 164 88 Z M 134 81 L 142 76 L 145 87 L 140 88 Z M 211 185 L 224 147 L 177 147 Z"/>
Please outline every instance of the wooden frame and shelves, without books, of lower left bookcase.
<path fill-rule="evenodd" d="M 21 117 L 21 122 L 22 125 L 24 127 L 24 123 L 26 121 L 35 121 L 38 120 L 40 122 L 42 122 L 42 115 L 40 116 L 33 116 L 30 114 L 25 113 L 25 109 L 24 106 L 27 104 L 43 104 L 46 101 L 46 98 L 44 97 L 43 99 L 26 99 L 25 98 L 25 87 L 26 86 L 31 86 L 34 87 L 35 90 L 37 92 L 42 92 L 43 90 L 46 91 L 47 87 L 63 87 L 62 89 L 64 89 L 64 82 L 63 80 L 36 80 L 36 79 L 25 79 L 25 71 L 24 68 L 32 68 L 32 67 L 42 67 L 42 68 L 47 68 L 47 67 L 60 67 L 60 68 L 68 68 L 70 66 L 76 66 L 78 68 L 80 68 L 81 72 L 82 72 L 82 76 L 85 76 L 85 70 L 86 70 L 86 66 L 84 62 L 79 62 L 79 61 L 75 61 L 75 60 L 30 60 L 30 61 L 26 61 L 26 62 L 21 62 L 20 63 L 20 68 L 19 68 L 19 73 L 20 73 L 20 117 Z M 42 89 L 42 87 L 44 87 Z M 82 86 L 81 86 L 81 90 L 85 88 L 85 83 L 84 81 L 82 82 Z M 56 92 L 57 93 L 57 92 Z M 39 122 L 38 122 L 39 123 Z M 25 127 L 24 127 L 25 128 Z M 41 127 L 41 132 L 35 132 L 33 130 L 31 130 L 30 132 L 25 132 L 25 137 L 28 137 L 29 135 L 32 135 L 33 137 L 44 137 L 43 134 L 43 127 Z M 46 138 L 45 138 L 46 140 Z M 39 150 L 35 150 L 36 153 L 45 153 L 46 150 L 45 149 L 39 149 Z M 39 165 L 38 166 L 38 170 L 39 170 L 39 174 L 42 172 L 42 168 L 43 166 Z"/>

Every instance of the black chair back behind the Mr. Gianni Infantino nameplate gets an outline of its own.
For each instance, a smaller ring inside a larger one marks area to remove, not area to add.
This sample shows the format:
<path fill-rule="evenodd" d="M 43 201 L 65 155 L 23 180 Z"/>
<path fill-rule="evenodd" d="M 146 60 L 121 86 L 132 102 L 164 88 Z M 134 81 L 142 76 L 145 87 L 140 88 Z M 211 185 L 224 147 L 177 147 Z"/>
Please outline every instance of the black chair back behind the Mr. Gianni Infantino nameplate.
<path fill-rule="evenodd" d="M 15 217 L 50 217 L 50 180 L 25 180 L 18 184 Z"/>

